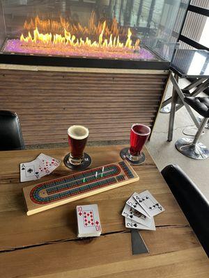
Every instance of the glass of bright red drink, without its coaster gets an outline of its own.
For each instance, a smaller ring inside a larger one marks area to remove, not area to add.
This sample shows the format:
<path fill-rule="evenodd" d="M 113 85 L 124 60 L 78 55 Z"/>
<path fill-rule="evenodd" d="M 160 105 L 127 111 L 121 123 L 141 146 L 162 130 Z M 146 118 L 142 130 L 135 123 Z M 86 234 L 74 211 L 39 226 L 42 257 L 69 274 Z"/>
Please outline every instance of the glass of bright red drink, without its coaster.
<path fill-rule="evenodd" d="M 146 144 L 148 137 L 150 136 L 150 128 L 144 124 L 133 124 L 130 132 L 130 149 L 128 152 L 128 158 L 134 160 L 139 159 L 141 149 Z"/>

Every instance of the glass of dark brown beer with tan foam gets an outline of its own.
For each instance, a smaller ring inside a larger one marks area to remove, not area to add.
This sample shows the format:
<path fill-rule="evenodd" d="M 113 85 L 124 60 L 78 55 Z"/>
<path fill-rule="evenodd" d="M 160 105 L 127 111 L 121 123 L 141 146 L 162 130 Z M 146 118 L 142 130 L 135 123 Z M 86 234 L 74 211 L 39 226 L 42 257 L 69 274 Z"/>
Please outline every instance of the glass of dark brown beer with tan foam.
<path fill-rule="evenodd" d="M 80 165 L 84 161 L 84 148 L 88 139 L 88 129 L 85 126 L 70 126 L 68 129 L 68 144 L 70 146 L 69 162 Z"/>

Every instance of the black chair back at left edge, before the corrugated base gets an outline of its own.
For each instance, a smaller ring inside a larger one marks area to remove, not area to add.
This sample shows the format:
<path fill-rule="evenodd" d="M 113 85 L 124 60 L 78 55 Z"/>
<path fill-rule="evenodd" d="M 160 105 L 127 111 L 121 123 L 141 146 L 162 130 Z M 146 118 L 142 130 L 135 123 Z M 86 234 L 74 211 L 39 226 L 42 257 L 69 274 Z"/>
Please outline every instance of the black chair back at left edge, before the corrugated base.
<path fill-rule="evenodd" d="M 10 111 L 0 111 L 0 151 L 24 149 L 24 140 L 17 114 Z"/>

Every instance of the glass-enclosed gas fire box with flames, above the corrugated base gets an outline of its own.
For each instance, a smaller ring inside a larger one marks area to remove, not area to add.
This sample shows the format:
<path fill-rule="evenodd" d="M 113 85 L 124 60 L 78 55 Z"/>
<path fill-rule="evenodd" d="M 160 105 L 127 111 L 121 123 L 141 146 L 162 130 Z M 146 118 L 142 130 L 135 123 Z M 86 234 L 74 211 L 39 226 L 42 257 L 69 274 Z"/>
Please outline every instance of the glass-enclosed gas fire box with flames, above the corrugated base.
<path fill-rule="evenodd" d="M 1 63 L 166 69 L 187 2 L 0 1 Z"/>

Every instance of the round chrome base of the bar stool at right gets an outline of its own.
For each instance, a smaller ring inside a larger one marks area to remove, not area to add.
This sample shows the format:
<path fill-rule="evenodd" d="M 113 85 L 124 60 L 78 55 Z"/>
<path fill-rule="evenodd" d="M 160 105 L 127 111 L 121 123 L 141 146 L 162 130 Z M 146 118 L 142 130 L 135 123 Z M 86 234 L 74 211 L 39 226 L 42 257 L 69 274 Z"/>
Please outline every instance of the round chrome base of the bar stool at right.
<path fill-rule="evenodd" d="M 194 159 L 206 159 L 209 156 L 209 149 L 201 142 L 193 144 L 192 138 L 180 138 L 176 141 L 176 149 L 184 156 Z"/>

